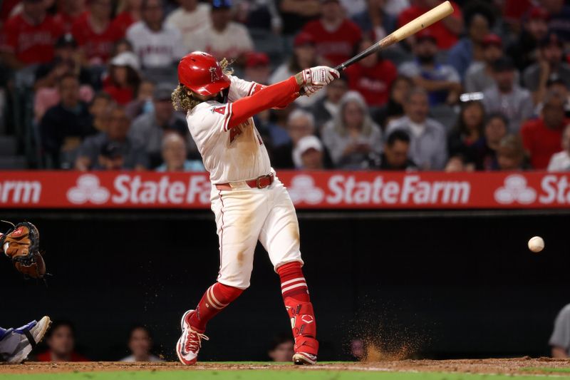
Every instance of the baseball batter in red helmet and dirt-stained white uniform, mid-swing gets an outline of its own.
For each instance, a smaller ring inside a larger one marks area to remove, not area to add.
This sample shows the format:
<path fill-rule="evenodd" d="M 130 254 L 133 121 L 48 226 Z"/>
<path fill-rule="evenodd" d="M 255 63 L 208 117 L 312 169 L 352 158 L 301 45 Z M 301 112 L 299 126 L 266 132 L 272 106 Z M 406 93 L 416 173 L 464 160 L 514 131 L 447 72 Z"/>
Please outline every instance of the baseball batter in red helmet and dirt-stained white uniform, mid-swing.
<path fill-rule="evenodd" d="M 227 61 L 195 51 L 178 65 L 175 108 L 187 123 L 212 182 L 212 211 L 219 238 L 219 274 L 196 309 L 182 316 L 177 343 L 183 364 L 195 364 L 207 322 L 249 287 L 257 240 L 281 279 L 295 339 L 295 364 L 315 364 L 318 354 L 313 305 L 301 266 L 299 225 L 284 185 L 276 177 L 252 117 L 282 108 L 338 78 L 333 68 L 307 68 L 271 86 L 231 75 Z"/>

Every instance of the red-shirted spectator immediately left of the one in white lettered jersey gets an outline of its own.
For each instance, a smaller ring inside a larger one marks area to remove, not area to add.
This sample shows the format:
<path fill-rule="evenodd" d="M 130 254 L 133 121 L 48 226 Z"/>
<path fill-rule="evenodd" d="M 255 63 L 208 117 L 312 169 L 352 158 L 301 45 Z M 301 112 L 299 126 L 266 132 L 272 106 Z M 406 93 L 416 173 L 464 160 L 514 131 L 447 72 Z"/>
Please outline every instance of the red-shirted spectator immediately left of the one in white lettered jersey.
<path fill-rule="evenodd" d="M 90 66 L 103 66 L 121 36 L 111 24 L 112 0 L 90 0 L 89 11 L 71 26 L 71 33 Z"/>

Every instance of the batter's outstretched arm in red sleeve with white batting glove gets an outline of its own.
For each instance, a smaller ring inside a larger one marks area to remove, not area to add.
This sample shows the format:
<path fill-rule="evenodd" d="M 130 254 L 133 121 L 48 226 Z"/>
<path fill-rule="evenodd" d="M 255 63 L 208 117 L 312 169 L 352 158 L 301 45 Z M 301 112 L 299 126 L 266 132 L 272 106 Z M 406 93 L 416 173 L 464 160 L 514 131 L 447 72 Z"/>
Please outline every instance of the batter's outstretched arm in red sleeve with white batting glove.
<path fill-rule="evenodd" d="M 261 88 L 251 96 L 227 105 L 228 122 L 225 129 L 233 128 L 261 111 L 291 103 L 299 96 L 301 88 L 309 95 L 316 93 L 339 76 L 334 68 L 317 66 L 307 68 L 286 81 Z"/>

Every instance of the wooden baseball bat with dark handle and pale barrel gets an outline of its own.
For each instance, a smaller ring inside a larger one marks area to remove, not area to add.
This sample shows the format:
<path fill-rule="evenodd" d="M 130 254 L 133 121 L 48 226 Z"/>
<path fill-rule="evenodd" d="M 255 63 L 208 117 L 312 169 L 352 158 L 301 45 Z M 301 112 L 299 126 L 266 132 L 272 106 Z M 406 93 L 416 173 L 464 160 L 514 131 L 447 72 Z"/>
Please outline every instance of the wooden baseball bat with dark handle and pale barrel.
<path fill-rule="evenodd" d="M 417 19 L 413 19 L 408 24 L 405 24 L 400 29 L 394 31 L 392 34 L 385 36 L 380 41 L 375 43 L 373 46 L 367 48 L 365 51 L 361 51 L 356 56 L 353 56 L 348 61 L 341 63 L 340 65 L 336 66 L 336 70 L 343 71 L 348 66 L 351 66 L 353 63 L 360 61 L 367 56 L 370 56 L 373 53 L 376 53 L 383 48 L 387 48 L 388 46 L 393 45 L 394 43 L 402 41 L 404 38 L 408 38 L 412 34 L 418 33 L 418 31 L 427 28 L 432 24 L 435 24 L 437 21 L 444 19 L 445 17 L 449 16 L 453 13 L 453 6 L 449 1 L 445 1 L 442 4 L 436 6 L 434 9 L 425 12 L 425 14 L 419 16 Z"/>

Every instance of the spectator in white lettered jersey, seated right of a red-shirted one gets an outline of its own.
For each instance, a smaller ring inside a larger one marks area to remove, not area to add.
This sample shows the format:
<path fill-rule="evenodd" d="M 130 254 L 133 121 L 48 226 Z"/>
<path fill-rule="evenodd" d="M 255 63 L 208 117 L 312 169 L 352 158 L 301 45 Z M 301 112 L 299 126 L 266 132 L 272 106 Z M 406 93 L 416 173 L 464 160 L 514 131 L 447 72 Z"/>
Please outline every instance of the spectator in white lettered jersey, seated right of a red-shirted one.
<path fill-rule="evenodd" d="M 187 53 L 180 31 L 163 23 L 162 0 L 142 0 L 142 17 L 127 29 L 142 68 L 172 70 Z"/>

